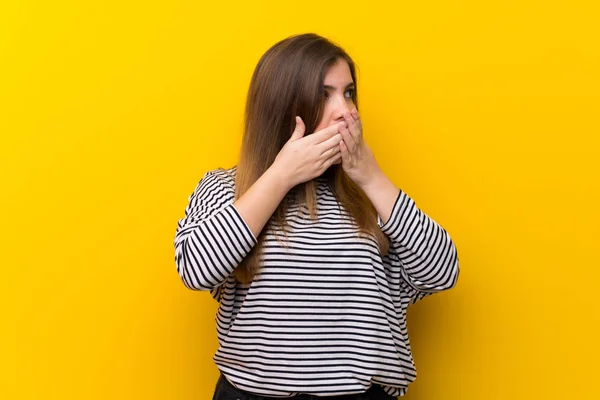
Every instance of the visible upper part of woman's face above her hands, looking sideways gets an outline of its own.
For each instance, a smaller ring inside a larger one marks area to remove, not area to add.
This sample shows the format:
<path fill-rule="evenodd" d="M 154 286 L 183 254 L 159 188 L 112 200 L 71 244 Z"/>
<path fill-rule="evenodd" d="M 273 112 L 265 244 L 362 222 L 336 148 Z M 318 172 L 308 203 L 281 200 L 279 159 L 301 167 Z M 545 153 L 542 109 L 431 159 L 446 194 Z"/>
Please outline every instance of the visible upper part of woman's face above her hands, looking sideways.
<path fill-rule="evenodd" d="M 325 106 L 323 117 L 315 132 L 344 121 L 344 113 L 355 108 L 352 102 L 352 93 L 355 86 L 346 60 L 338 59 L 329 68 L 325 74 L 323 85 Z"/>

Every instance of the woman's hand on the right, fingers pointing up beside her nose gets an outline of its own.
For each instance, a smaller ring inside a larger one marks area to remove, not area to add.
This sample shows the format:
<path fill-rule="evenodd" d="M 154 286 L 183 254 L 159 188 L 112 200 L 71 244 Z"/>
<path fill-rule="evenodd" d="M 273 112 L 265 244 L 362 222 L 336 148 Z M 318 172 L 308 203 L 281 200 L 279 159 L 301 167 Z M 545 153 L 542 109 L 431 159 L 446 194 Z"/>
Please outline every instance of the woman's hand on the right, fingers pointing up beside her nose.
<path fill-rule="evenodd" d="M 358 117 L 358 111 L 353 109 L 350 113 L 346 113 L 344 120 L 348 127 L 340 130 L 342 134 L 340 142 L 342 168 L 350 179 L 362 188 L 375 177 L 379 171 L 379 165 L 375 160 L 375 155 L 363 139 L 362 121 Z"/>

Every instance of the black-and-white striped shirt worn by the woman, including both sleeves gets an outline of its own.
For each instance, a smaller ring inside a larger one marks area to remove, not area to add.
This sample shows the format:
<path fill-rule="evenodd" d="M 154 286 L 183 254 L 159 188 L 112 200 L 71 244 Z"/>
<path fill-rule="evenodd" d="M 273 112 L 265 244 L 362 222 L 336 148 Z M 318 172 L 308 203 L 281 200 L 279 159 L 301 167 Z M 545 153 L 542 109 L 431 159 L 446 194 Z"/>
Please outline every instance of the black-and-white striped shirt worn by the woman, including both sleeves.
<path fill-rule="evenodd" d="M 257 239 L 233 205 L 236 169 L 205 173 L 174 243 L 184 285 L 219 301 L 219 370 L 237 388 L 262 396 L 353 394 L 372 383 L 404 395 L 416 378 L 407 308 L 458 279 L 448 233 L 400 190 L 389 220 L 377 216 L 390 239 L 382 257 L 374 236 L 358 236 L 321 176 L 318 220 L 294 203 L 288 238 L 267 229 L 261 268 L 242 284 L 232 272 Z"/>

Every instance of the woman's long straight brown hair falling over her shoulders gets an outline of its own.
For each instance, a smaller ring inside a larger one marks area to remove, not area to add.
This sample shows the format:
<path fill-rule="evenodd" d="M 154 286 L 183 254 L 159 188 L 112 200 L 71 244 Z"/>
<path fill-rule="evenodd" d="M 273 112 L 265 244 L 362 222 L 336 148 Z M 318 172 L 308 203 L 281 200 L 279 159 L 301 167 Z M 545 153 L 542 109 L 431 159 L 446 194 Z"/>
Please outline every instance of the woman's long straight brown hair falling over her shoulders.
<path fill-rule="evenodd" d="M 355 64 L 346 52 L 328 39 L 305 33 L 283 39 L 260 58 L 248 90 L 244 136 L 236 168 L 235 199 L 240 198 L 273 164 L 275 157 L 290 139 L 298 115 L 306 126 L 305 136 L 318 126 L 324 108 L 323 84 L 328 68 L 339 59 L 350 67 L 355 87 Z M 352 100 L 358 109 L 357 91 Z M 360 235 L 373 235 L 381 254 L 389 249 L 387 236 L 377 224 L 377 211 L 364 191 L 346 175 L 341 164 L 333 164 L 324 174 L 341 206 L 352 216 Z M 285 216 L 292 202 L 305 205 L 310 217 L 316 217 L 314 180 L 290 190 L 279 204 L 258 243 L 235 270 L 237 279 L 250 282 L 260 267 L 265 232 L 277 227 L 287 236 Z"/>

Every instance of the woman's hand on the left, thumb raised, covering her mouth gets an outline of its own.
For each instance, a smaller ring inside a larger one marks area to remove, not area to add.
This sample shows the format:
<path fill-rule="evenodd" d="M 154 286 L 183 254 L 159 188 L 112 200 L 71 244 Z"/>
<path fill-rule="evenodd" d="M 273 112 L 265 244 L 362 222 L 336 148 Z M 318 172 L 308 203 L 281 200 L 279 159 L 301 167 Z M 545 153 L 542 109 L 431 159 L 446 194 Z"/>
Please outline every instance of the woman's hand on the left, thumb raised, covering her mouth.
<path fill-rule="evenodd" d="M 292 136 L 273 162 L 273 167 L 288 180 L 290 189 L 320 176 L 331 165 L 341 163 L 340 129 L 344 126 L 345 121 L 304 137 L 304 122 L 296 117 Z"/>

